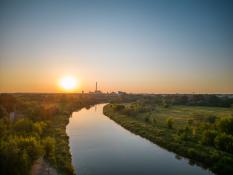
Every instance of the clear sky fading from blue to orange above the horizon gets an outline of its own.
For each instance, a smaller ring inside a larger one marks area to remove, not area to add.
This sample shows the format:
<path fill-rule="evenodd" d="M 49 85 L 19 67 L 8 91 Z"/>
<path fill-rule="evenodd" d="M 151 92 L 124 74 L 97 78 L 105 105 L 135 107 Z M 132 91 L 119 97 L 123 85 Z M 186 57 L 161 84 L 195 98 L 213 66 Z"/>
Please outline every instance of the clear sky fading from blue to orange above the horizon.
<path fill-rule="evenodd" d="M 233 1 L 0 0 L 0 92 L 233 93 Z"/>

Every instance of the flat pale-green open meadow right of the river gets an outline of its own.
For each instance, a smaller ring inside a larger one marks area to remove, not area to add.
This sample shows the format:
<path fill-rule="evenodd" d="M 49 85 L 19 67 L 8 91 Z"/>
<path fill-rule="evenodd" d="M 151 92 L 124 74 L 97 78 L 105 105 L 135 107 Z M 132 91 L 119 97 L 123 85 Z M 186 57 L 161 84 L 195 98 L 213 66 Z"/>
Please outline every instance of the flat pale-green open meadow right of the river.
<path fill-rule="evenodd" d="M 155 110 L 142 113 L 136 116 L 138 119 L 145 119 L 146 116 L 156 120 L 159 127 L 167 127 L 166 119 L 171 117 L 174 121 L 174 128 L 183 128 L 189 120 L 193 120 L 193 125 L 205 122 L 208 117 L 216 116 L 229 117 L 233 114 L 233 108 L 202 107 L 202 106 L 171 106 L 169 108 L 156 107 Z"/>

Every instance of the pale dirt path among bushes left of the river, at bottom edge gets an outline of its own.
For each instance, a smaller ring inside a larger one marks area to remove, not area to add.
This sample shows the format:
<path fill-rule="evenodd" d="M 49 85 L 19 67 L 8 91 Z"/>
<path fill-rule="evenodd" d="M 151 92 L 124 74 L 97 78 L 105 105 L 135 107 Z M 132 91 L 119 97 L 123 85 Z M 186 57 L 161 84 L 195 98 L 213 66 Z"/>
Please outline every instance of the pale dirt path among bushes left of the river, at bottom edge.
<path fill-rule="evenodd" d="M 57 171 L 52 168 L 43 158 L 34 162 L 31 169 L 32 175 L 58 175 Z"/>

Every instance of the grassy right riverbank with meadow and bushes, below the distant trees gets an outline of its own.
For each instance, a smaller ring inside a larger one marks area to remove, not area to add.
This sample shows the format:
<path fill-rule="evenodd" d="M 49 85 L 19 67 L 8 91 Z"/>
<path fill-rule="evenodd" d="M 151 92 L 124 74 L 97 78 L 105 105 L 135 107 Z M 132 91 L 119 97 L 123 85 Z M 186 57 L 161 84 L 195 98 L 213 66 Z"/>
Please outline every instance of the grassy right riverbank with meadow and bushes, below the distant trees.
<path fill-rule="evenodd" d="M 233 173 L 232 147 L 225 150 L 218 145 L 219 139 L 214 142 L 217 146 L 206 143 L 206 140 L 211 137 L 209 131 L 216 132 L 216 138 L 224 135 L 218 130 L 216 122 L 230 117 L 232 112 L 232 108 L 197 106 L 157 105 L 151 108 L 151 105 L 144 105 L 142 108 L 139 103 L 108 104 L 104 107 L 106 116 L 131 132 L 217 174 Z M 231 136 L 227 135 L 227 138 Z M 232 144 L 232 140 L 228 140 L 227 144 Z"/>

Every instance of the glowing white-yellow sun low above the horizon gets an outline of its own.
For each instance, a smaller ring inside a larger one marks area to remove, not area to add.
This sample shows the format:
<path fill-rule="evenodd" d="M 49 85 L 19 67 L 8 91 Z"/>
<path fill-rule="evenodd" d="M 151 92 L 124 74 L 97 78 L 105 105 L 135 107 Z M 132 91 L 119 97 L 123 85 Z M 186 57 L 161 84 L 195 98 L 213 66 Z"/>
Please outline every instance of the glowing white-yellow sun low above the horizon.
<path fill-rule="evenodd" d="M 65 76 L 61 78 L 59 85 L 65 91 L 74 91 L 78 86 L 78 79 L 72 76 Z"/>

